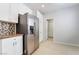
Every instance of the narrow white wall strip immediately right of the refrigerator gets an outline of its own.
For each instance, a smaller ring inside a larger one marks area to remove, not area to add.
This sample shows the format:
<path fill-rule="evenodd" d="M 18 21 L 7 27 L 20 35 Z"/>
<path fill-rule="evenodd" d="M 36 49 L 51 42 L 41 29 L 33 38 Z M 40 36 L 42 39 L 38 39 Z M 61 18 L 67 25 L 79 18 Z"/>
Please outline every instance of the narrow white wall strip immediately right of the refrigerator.
<path fill-rule="evenodd" d="M 43 15 L 40 11 L 37 11 L 37 17 L 39 18 L 39 42 L 43 41 Z"/>

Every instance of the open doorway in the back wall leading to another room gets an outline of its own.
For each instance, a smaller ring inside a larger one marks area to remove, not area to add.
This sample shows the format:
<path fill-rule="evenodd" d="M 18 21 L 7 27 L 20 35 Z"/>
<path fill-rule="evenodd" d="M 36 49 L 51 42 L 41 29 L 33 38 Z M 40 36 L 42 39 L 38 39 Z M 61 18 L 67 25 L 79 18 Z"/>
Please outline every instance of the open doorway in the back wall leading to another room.
<path fill-rule="evenodd" d="M 53 19 L 47 19 L 48 21 L 48 39 L 53 39 Z"/>

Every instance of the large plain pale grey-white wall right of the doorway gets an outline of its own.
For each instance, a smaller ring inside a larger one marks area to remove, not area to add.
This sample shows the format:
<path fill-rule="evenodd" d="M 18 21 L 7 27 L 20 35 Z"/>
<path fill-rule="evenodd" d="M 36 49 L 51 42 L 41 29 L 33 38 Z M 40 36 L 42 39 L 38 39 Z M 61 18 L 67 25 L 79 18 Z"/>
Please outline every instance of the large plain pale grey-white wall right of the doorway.
<path fill-rule="evenodd" d="M 64 8 L 45 17 L 54 19 L 54 41 L 79 44 L 79 6 Z"/>

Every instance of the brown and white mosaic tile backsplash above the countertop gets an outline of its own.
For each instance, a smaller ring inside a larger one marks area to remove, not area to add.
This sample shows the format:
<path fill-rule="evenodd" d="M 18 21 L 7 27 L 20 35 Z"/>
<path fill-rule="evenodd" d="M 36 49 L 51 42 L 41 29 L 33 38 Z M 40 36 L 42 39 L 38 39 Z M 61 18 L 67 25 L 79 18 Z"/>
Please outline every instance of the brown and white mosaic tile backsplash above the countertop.
<path fill-rule="evenodd" d="M 10 35 L 16 35 L 16 24 L 0 22 L 0 38 L 6 38 Z"/>

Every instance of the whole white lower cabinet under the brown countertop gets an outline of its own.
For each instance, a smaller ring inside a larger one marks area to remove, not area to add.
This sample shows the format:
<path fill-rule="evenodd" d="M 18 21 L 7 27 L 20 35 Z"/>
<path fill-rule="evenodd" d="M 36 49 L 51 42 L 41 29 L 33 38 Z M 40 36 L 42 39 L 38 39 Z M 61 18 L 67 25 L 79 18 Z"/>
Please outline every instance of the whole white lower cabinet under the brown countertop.
<path fill-rule="evenodd" d="M 2 39 L 2 55 L 22 55 L 23 41 L 22 36 Z"/>

